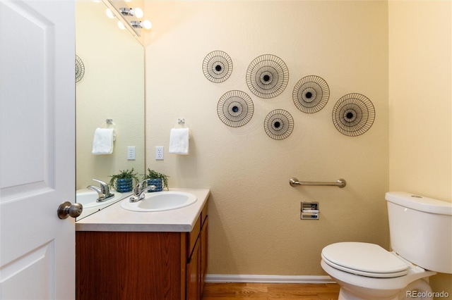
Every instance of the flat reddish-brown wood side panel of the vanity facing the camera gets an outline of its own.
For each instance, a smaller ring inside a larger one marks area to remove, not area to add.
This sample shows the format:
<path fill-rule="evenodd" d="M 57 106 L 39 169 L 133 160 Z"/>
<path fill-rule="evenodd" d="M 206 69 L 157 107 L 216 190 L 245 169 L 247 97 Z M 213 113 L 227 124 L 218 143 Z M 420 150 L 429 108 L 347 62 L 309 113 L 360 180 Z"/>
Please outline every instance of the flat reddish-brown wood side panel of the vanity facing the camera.
<path fill-rule="evenodd" d="M 180 232 L 76 232 L 76 299 L 185 299 L 181 237 Z"/>

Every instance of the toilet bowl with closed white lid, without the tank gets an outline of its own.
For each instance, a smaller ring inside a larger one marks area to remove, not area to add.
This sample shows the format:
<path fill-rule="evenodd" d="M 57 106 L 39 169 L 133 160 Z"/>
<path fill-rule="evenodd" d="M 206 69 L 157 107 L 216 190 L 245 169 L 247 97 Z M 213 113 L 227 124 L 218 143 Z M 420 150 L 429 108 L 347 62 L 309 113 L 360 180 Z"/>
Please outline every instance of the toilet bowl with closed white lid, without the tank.
<path fill-rule="evenodd" d="M 341 287 L 339 299 L 405 299 L 409 285 L 410 290 L 432 292 L 423 278 L 436 272 L 412 265 L 376 244 L 331 244 L 323 248 L 321 257 L 321 267 Z"/>

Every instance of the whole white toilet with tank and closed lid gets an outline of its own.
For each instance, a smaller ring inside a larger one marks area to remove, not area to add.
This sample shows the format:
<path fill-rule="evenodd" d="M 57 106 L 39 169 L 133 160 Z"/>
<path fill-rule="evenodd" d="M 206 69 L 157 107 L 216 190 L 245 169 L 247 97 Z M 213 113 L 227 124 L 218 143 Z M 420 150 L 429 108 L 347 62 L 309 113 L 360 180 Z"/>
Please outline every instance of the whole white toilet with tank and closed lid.
<path fill-rule="evenodd" d="M 386 193 L 392 252 L 340 242 L 322 250 L 321 266 L 340 285 L 339 299 L 433 299 L 428 277 L 452 273 L 452 204 Z"/>

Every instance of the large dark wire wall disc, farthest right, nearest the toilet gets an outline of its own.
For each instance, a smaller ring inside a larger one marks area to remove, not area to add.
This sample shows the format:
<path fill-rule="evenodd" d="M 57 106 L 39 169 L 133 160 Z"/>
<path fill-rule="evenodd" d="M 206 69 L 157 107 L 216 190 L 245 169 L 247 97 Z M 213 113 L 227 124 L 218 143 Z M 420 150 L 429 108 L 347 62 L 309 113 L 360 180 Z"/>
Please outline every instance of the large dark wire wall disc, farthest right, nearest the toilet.
<path fill-rule="evenodd" d="M 333 123 L 343 135 L 356 137 L 374 124 L 374 104 L 362 94 L 346 94 L 333 108 Z"/>

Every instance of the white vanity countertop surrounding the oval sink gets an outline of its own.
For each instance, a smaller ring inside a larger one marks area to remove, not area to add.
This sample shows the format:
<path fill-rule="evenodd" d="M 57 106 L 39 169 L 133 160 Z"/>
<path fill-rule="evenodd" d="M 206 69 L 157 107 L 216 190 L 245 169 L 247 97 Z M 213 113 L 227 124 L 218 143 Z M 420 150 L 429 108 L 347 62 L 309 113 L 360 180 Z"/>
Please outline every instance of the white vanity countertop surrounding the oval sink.
<path fill-rule="evenodd" d="M 194 204 L 173 211 L 136 212 L 121 208 L 118 201 L 76 222 L 76 231 L 191 232 L 210 195 L 210 189 L 169 189 L 189 192 L 198 198 Z"/>

